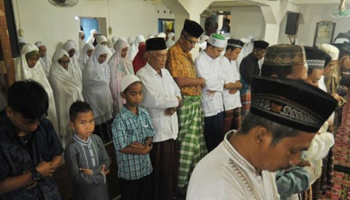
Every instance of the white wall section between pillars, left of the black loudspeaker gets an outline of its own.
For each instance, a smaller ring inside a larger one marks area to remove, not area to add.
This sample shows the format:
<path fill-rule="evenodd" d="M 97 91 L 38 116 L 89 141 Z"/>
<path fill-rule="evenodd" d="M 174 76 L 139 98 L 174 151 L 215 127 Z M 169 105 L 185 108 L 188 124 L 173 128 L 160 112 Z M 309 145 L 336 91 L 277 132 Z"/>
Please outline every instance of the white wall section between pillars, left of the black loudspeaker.
<path fill-rule="evenodd" d="M 261 39 L 265 34 L 265 20 L 258 6 L 232 7 L 230 26 L 233 38 L 252 35 Z"/>

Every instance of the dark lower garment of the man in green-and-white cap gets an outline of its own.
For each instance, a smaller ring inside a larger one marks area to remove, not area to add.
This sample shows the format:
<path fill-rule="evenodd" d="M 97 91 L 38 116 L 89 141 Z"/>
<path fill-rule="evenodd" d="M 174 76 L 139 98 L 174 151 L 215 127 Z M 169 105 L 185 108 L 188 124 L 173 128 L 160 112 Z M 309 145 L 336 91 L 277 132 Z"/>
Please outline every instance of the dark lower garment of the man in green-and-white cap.
<path fill-rule="evenodd" d="M 208 152 L 223 140 L 223 112 L 204 117 L 204 139 Z"/>

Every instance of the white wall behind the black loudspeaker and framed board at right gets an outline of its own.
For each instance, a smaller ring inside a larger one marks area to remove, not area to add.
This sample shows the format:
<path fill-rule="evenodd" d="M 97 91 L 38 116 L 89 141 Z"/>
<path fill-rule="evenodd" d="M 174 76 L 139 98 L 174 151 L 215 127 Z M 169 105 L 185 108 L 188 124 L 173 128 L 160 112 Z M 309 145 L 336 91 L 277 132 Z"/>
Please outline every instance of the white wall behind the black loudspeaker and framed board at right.
<path fill-rule="evenodd" d="M 334 5 L 307 5 L 299 6 L 300 12 L 303 14 L 304 24 L 299 25 L 298 43 L 300 45 L 313 45 L 316 23 L 322 20 L 335 22 L 334 38 L 339 32 L 347 32 L 350 29 L 350 17 L 335 19 L 329 15 Z M 286 16 L 281 21 L 279 43 L 289 43 L 288 38 L 284 34 Z"/>

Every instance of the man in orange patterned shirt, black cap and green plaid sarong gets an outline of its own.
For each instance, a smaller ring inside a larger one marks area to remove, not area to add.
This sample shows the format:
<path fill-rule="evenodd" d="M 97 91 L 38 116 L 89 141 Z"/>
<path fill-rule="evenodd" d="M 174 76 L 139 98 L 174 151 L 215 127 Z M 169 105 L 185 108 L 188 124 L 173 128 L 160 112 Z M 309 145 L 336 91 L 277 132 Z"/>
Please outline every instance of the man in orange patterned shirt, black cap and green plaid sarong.
<path fill-rule="evenodd" d="M 180 38 L 168 50 L 166 67 L 181 90 L 182 106 L 177 109 L 179 132 L 178 190 L 185 192 L 193 167 L 206 154 L 203 135 L 203 114 L 200 104 L 204 78 L 196 76 L 196 69 L 189 52 L 198 43 L 203 28 L 186 19 Z"/>

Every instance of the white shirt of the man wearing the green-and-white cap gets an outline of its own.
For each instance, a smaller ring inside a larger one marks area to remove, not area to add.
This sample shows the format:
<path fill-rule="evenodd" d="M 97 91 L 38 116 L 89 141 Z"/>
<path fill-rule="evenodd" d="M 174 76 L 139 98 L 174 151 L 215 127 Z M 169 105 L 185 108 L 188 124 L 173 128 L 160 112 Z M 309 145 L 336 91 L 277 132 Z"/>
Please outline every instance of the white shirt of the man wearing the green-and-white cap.
<path fill-rule="evenodd" d="M 212 59 L 205 51 L 202 51 L 194 60 L 197 77 L 205 79 L 205 86 L 202 88 L 201 105 L 204 117 L 214 116 L 223 111 L 222 92 L 223 74 L 219 58 Z M 209 96 L 208 90 L 216 91 L 213 96 Z"/>

